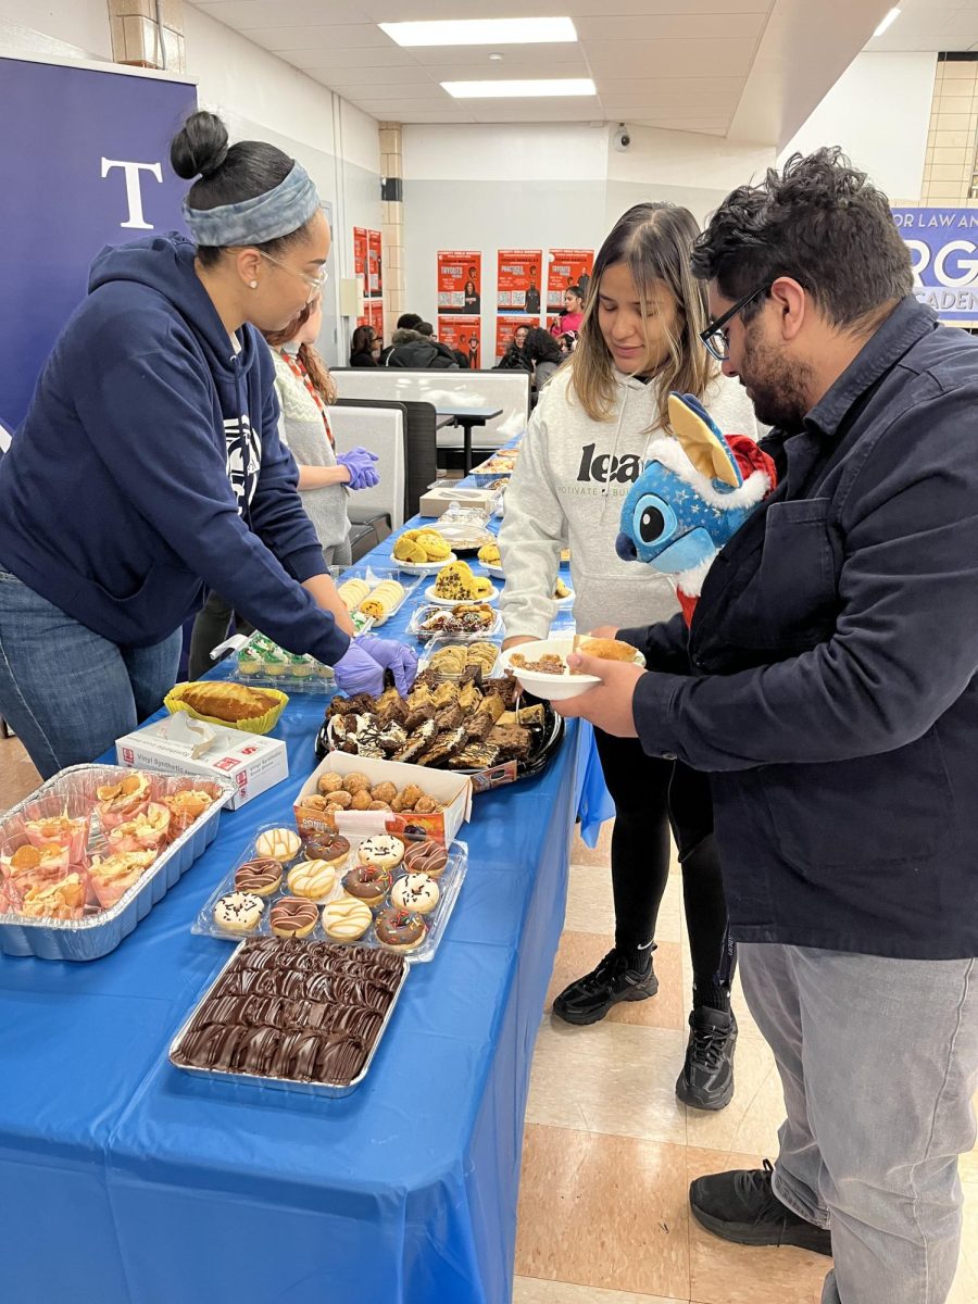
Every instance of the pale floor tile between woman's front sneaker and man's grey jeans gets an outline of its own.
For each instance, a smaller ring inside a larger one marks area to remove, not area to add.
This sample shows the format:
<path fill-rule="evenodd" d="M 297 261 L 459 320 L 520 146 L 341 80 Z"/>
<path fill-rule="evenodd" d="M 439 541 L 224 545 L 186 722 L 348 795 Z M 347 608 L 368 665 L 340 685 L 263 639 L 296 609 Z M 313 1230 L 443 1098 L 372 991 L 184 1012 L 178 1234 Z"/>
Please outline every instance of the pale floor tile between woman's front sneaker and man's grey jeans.
<path fill-rule="evenodd" d="M 777 1129 L 784 1120 L 781 1080 L 775 1056 L 760 1041 L 737 1041 L 734 1097 L 725 1110 L 690 1110 L 689 1145 L 777 1157 Z"/>

